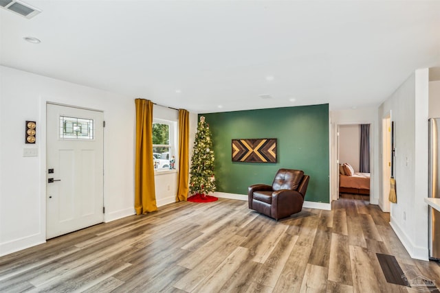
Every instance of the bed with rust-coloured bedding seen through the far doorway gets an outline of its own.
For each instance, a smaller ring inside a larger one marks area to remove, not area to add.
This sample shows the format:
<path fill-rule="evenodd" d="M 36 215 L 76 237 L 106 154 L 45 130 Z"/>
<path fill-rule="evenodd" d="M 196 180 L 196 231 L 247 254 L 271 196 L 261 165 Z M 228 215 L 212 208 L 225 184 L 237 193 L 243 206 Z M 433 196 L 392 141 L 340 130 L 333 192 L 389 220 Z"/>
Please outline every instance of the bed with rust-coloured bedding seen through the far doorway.
<path fill-rule="evenodd" d="M 340 194 L 370 195 L 370 174 L 354 172 L 352 171 L 353 168 L 351 168 L 351 170 L 347 170 L 344 168 L 344 165 L 342 165 L 343 167 L 340 168 L 339 174 Z"/>

